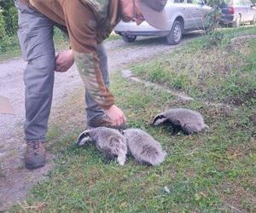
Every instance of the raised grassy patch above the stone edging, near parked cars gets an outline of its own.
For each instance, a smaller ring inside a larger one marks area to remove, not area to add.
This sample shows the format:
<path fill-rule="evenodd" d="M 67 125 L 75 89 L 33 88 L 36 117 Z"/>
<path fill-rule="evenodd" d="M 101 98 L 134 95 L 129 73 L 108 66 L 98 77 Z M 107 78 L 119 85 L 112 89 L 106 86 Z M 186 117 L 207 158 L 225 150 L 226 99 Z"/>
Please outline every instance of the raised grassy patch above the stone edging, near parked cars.
<path fill-rule="evenodd" d="M 225 42 L 212 49 L 201 49 L 204 39 L 200 38 L 175 54 L 131 68 L 140 78 L 197 99 L 250 106 L 256 98 L 256 41 L 230 41 L 237 34 L 226 32 Z"/>

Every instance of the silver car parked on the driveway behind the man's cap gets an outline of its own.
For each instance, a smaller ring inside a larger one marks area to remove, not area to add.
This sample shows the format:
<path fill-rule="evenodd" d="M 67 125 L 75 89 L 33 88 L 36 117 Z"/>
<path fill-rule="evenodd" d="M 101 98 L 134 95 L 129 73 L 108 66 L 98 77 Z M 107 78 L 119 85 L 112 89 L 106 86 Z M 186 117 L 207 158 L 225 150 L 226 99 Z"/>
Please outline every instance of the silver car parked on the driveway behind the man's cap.
<path fill-rule="evenodd" d="M 121 21 L 113 31 L 126 43 L 132 43 L 137 36 L 166 37 L 169 44 L 180 43 L 183 33 L 205 29 L 205 15 L 212 8 L 203 0 L 168 0 L 166 3 L 168 27 L 160 30 L 150 26 L 145 20 L 139 26 L 135 21 Z"/>

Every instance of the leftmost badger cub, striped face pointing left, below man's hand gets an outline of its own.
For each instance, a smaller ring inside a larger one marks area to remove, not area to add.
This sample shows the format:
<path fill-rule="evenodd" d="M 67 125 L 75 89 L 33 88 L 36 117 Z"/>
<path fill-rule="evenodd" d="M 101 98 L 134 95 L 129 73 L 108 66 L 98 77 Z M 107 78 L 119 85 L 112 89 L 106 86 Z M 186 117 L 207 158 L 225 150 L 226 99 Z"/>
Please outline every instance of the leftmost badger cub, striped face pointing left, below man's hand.
<path fill-rule="evenodd" d="M 117 157 L 120 165 L 125 164 L 127 145 L 125 137 L 118 130 L 106 127 L 85 130 L 79 135 L 77 144 L 83 146 L 88 142 L 95 142 L 96 148 L 101 151 L 108 160 Z"/>

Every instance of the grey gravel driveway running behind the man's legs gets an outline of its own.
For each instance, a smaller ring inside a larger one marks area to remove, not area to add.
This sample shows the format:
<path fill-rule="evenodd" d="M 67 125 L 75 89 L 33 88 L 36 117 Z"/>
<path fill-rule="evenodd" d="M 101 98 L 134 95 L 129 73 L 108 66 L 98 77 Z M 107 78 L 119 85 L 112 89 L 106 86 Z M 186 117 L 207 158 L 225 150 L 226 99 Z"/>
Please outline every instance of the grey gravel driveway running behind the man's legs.
<path fill-rule="evenodd" d="M 177 49 L 180 45 L 198 36 L 200 32 L 188 34 L 177 46 L 166 45 L 164 38 L 147 38 L 131 44 L 124 43 L 122 40 L 109 41 L 106 43 L 109 72 Z M 28 171 L 23 165 L 22 156 L 26 143 L 22 140 L 22 124 L 25 116 L 22 71 L 25 66 L 26 63 L 23 60 L 12 60 L 0 64 L 0 95 L 8 96 L 15 108 L 15 115 L 0 114 L 0 211 L 26 199 L 32 185 L 42 179 L 51 167 L 48 164 L 42 169 Z M 74 91 L 81 87 L 82 81 L 75 66 L 66 73 L 55 73 L 51 119 L 59 113 L 56 108 L 63 100 L 68 99 L 70 95 L 75 95 Z M 67 108 L 67 110 L 72 110 L 72 108 Z"/>

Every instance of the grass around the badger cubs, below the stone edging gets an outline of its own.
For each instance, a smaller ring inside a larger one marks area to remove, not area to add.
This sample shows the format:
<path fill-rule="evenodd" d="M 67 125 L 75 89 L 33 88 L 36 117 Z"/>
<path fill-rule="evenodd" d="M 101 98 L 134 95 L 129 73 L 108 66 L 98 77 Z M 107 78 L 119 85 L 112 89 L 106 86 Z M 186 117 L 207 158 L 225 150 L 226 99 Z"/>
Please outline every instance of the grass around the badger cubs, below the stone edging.
<path fill-rule="evenodd" d="M 240 210 L 256 210 L 253 112 L 246 107 L 233 111 L 197 101 L 182 103 L 163 91 L 128 83 L 119 75 L 113 82 L 118 105 L 130 124 L 160 141 L 168 153 L 165 162 L 145 167 L 129 158 L 124 167 L 116 162 L 106 164 L 95 147 L 74 146 L 79 132 L 61 137 L 55 127 L 50 133 L 51 139 L 56 138 L 50 145 L 57 155 L 55 169 L 49 181 L 33 188 L 23 208 L 44 212 L 218 212 L 230 211 L 236 201 Z M 172 130 L 150 127 L 154 114 L 170 107 L 198 110 L 210 130 L 172 136 Z M 24 210 L 18 205 L 12 211 Z"/>

